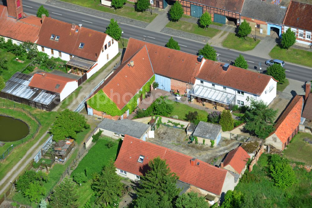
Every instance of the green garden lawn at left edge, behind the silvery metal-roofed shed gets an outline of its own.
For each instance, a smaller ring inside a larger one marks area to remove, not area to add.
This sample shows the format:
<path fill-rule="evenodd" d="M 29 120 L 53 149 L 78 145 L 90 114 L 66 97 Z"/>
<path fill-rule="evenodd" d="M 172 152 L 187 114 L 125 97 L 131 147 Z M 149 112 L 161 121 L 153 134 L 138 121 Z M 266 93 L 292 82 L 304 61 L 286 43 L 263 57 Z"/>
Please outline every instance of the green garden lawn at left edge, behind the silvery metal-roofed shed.
<path fill-rule="evenodd" d="M 7 81 L 12 77 L 13 74 L 16 72 L 22 72 L 23 69 L 30 63 L 30 60 L 26 58 L 25 55 L 23 56 L 15 56 L 11 52 L 7 52 L 3 49 L 0 49 L 0 54 L 4 57 L 7 57 L 7 67 L 8 70 L 3 70 L 1 76 L 3 77 L 4 81 Z M 17 62 L 15 59 L 18 57 L 19 60 L 25 61 L 24 63 Z"/>

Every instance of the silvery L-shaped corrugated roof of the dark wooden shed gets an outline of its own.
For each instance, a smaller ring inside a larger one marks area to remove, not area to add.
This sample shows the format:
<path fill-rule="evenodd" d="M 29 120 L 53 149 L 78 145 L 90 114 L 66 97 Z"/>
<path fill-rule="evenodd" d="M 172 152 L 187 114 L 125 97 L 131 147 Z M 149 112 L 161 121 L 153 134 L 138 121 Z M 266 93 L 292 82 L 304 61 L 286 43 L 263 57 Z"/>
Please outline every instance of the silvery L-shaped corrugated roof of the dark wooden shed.
<path fill-rule="evenodd" d="M 38 88 L 29 87 L 32 76 L 16 72 L 7 82 L 2 92 L 22 97 L 44 105 L 49 105 L 57 96 L 58 93 L 47 92 Z"/>

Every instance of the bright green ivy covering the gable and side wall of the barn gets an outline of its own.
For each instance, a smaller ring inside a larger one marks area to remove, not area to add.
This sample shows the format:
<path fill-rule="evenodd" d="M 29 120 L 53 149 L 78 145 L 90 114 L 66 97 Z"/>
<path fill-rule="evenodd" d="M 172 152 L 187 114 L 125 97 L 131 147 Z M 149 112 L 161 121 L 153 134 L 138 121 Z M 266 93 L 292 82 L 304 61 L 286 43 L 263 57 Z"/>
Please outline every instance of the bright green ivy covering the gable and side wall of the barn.
<path fill-rule="evenodd" d="M 100 90 L 97 92 L 93 97 L 91 97 L 87 104 L 92 107 L 93 109 L 97 111 L 103 111 L 106 114 L 109 114 L 111 116 L 121 116 L 124 114 L 128 109 L 129 113 L 132 113 L 134 109 L 136 108 L 137 100 L 138 98 L 143 94 L 145 95 L 145 92 L 149 92 L 149 86 L 155 81 L 155 75 L 150 78 L 150 80 L 142 87 L 142 90 L 139 91 L 139 93 L 135 94 L 134 97 L 131 98 L 131 100 L 123 107 L 123 109 L 119 110 L 116 104 L 109 98 L 103 90 Z"/>

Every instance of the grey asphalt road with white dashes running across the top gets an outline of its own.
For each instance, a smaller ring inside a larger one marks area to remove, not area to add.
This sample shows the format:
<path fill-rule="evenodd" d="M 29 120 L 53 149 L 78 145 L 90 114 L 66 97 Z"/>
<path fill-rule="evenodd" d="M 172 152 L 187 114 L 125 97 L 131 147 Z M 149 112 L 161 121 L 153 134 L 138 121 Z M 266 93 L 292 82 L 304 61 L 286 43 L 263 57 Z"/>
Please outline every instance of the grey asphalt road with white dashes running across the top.
<path fill-rule="evenodd" d="M 2 0 L 3 1 L 3 0 Z M 0 4 L 3 4 L 3 2 L 0 1 Z M 23 0 L 23 9 L 25 13 L 37 14 L 37 9 L 41 4 L 37 2 L 33 2 L 30 0 Z M 74 12 L 71 10 L 66 10 L 59 7 L 54 7 L 51 5 L 45 5 L 45 8 L 49 10 L 50 17 L 64 21 L 69 23 L 76 23 L 76 24 L 82 24 L 83 27 L 88 27 L 90 29 L 94 29 L 100 32 L 105 32 L 105 28 L 109 24 L 109 20 L 94 17 L 91 15 Z M 132 25 L 126 25 L 123 23 L 119 23 L 121 29 L 124 31 L 124 38 L 133 37 L 139 40 L 144 40 L 146 42 L 158 44 L 161 46 L 164 46 L 168 39 L 170 38 L 170 35 L 160 33 L 160 32 L 153 32 L 146 30 L 141 27 L 136 27 Z M 192 54 L 197 54 L 198 50 L 201 49 L 204 46 L 204 43 L 196 42 L 193 40 L 181 38 L 181 37 L 175 37 L 174 38 L 178 43 L 180 44 L 181 51 L 188 52 Z M 259 62 L 261 62 L 261 73 L 266 70 L 265 65 L 265 58 L 256 57 L 249 55 L 244 52 L 238 52 L 226 48 L 220 48 L 220 47 L 214 47 L 217 53 L 219 54 L 219 59 L 222 62 L 225 63 L 231 63 L 233 62 L 236 57 L 239 56 L 239 54 L 243 54 L 245 57 L 245 60 L 249 64 L 249 69 L 256 70 L 259 72 Z M 311 66 L 312 67 L 312 66 Z M 298 81 L 310 81 L 312 80 L 312 69 L 300 65 L 295 65 L 286 62 L 285 63 L 285 70 L 286 70 L 286 77 Z"/>

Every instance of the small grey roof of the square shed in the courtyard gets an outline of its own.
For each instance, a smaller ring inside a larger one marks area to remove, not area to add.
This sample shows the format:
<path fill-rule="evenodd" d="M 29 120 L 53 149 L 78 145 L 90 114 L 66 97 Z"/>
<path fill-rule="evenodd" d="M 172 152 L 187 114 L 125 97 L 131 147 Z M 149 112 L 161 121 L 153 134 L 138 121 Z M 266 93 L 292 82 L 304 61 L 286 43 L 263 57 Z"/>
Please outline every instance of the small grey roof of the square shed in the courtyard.
<path fill-rule="evenodd" d="M 198 125 L 193 132 L 193 136 L 199 136 L 207 139 L 216 139 L 221 130 L 221 126 L 218 124 L 199 121 Z"/>

